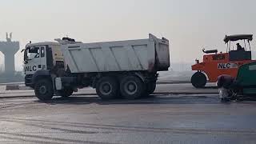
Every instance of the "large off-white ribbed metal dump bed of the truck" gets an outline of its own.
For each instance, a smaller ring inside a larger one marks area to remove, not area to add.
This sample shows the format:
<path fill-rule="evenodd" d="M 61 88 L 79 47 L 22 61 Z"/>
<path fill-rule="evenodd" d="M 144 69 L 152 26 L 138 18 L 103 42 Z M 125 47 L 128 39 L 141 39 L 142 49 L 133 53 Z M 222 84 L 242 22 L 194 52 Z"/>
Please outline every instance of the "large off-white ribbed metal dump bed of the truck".
<path fill-rule="evenodd" d="M 62 44 L 72 73 L 161 71 L 170 67 L 169 41 L 150 34 L 147 39 Z"/>

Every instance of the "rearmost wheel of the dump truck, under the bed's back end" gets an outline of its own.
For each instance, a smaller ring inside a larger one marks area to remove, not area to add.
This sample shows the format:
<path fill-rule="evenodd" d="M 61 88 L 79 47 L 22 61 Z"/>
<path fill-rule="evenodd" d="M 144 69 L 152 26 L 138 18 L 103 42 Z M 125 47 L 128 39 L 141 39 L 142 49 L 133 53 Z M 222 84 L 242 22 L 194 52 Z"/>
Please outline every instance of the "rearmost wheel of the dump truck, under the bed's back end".
<path fill-rule="evenodd" d="M 126 99 L 140 98 L 144 90 L 144 83 L 136 76 L 126 76 L 120 82 L 120 92 Z"/>

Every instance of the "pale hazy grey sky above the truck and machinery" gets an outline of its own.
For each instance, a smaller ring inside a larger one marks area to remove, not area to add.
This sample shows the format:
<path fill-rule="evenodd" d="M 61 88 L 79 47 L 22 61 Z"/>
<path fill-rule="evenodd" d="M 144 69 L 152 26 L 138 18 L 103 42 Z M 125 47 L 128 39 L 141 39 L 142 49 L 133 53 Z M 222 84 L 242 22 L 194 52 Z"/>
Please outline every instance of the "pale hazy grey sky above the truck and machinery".
<path fill-rule="evenodd" d="M 171 62 L 194 62 L 203 46 L 225 51 L 226 34 L 255 35 L 255 6 L 255 0 L 0 0 L 0 40 L 13 32 L 22 49 L 66 35 L 102 42 L 152 33 L 170 40 Z M 21 70 L 22 55 L 15 58 Z"/>

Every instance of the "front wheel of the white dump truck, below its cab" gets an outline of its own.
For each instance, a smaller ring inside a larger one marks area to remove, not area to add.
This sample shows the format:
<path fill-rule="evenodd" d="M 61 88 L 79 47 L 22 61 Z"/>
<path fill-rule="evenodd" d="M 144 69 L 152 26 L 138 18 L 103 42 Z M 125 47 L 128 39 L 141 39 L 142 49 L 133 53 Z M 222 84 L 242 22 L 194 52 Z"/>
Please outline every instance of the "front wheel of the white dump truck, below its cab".
<path fill-rule="evenodd" d="M 41 101 L 47 101 L 53 98 L 54 90 L 52 82 L 48 79 L 40 79 L 34 85 L 34 94 Z"/>

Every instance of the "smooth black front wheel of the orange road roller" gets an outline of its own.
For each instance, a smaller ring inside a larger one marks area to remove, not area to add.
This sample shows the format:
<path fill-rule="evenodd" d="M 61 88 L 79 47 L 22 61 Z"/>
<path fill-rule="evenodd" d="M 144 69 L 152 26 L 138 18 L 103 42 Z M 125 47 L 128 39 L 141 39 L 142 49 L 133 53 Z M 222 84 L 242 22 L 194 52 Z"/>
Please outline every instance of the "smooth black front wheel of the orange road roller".
<path fill-rule="evenodd" d="M 205 74 L 201 72 L 196 72 L 191 77 L 191 83 L 195 88 L 202 88 L 206 86 L 207 78 Z"/>

